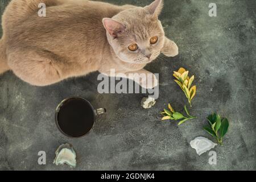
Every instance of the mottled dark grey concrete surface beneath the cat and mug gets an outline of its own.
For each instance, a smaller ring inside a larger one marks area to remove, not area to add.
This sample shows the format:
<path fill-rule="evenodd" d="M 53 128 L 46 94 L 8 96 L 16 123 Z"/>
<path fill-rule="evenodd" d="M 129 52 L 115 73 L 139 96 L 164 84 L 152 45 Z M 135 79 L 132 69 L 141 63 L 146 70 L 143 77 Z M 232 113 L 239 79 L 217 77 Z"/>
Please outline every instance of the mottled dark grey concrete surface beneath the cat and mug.
<path fill-rule="evenodd" d="M 8 1 L 0 1 L 1 14 Z M 151 1 L 108 2 L 145 6 Z M 210 2 L 217 4 L 215 18 L 208 16 Z M 160 97 L 150 110 L 139 104 L 144 94 L 98 94 L 98 73 L 44 88 L 30 86 L 11 72 L 0 76 L 0 169 L 69 170 L 52 164 L 56 148 L 69 142 L 77 152 L 73 170 L 255 170 L 255 2 L 165 1 L 160 19 L 180 54 L 147 66 L 160 73 Z M 168 102 L 176 110 L 187 103 L 172 78 L 180 67 L 196 76 L 191 114 L 198 119 L 178 127 L 161 122 L 159 112 Z M 64 137 L 55 125 L 55 107 L 70 96 L 108 110 L 80 139 Z M 230 121 L 224 146 L 214 148 L 216 166 L 208 164 L 208 153 L 197 156 L 189 146 L 195 137 L 212 139 L 202 127 L 213 111 Z M 37 162 L 41 150 L 47 154 L 45 166 Z"/>

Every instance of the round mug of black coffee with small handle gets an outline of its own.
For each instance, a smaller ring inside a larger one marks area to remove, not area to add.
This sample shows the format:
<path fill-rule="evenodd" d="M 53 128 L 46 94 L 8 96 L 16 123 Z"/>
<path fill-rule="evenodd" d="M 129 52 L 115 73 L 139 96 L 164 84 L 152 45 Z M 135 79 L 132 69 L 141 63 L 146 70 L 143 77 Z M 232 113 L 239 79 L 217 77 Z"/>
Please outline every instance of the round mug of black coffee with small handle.
<path fill-rule="evenodd" d="M 104 113 L 106 109 L 94 109 L 84 98 L 70 97 L 57 106 L 55 121 L 61 133 L 68 137 L 79 138 L 92 130 L 96 116 Z"/>

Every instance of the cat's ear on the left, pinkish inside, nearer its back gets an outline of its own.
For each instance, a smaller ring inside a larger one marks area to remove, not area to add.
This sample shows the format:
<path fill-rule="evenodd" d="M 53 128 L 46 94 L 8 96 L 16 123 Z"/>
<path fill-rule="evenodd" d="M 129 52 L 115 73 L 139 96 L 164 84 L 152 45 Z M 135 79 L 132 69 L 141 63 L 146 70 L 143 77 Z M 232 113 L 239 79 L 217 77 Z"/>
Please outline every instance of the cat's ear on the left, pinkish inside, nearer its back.
<path fill-rule="evenodd" d="M 102 19 L 105 29 L 113 38 L 117 38 L 118 34 L 121 34 L 125 30 L 125 26 L 122 23 L 117 22 L 111 18 Z"/>

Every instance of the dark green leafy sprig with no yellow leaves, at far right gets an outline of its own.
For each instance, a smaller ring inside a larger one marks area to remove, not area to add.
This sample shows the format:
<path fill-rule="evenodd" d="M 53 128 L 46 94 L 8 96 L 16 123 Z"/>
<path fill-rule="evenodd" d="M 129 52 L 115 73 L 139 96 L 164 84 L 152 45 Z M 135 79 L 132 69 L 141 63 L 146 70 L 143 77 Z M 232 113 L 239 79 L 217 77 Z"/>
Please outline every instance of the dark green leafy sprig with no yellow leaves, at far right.
<path fill-rule="evenodd" d="M 212 137 L 214 137 L 218 143 L 223 146 L 223 137 L 228 132 L 229 121 L 226 118 L 220 117 L 219 114 L 213 113 L 208 116 L 208 122 L 210 127 L 204 127 L 204 130 L 207 131 Z"/>

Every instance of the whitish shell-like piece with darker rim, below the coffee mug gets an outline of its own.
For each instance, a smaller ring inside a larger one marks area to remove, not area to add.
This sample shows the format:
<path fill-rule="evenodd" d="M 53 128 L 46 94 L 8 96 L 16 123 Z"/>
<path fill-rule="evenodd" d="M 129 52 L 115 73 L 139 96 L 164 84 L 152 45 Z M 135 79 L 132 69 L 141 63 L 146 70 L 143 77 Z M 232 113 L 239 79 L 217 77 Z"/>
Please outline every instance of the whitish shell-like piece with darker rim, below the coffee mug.
<path fill-rule="evenodd" d="M 61 144 L 55 154 L 53 164 L 56 164 L 56 166 L 59 166 L 59 164 L 68 164 L 69 167 L 76 167 L 76 152 L 71 144 Z"/>

